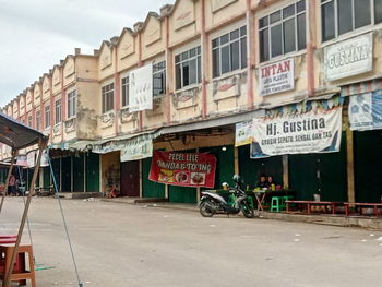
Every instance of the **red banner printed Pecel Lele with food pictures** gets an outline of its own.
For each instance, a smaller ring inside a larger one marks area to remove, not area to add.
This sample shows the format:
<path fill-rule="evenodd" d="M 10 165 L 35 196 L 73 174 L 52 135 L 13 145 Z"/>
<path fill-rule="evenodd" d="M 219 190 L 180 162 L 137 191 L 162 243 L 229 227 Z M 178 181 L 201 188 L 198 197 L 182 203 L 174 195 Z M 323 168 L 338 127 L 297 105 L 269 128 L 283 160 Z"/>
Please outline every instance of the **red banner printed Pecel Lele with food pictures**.
<path fill-rule="evenodd" d="M 192 188 L 214 188 L 216 157 L 201 153 L 155 151 L 148 179 Z"/>

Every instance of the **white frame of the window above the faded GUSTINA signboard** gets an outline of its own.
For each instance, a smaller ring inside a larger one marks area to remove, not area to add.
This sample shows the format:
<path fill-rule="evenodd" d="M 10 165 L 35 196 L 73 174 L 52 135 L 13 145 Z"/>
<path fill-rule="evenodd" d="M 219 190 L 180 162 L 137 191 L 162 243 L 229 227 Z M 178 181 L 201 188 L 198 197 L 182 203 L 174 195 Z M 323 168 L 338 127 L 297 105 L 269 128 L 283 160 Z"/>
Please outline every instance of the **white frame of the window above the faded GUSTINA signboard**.
<path fill-rule="evenodd" d="M 334 38 L 332 39 L 326 39 L 324 40 L 323 39 L 323 31 L 322 31 L 322 7 L 324 4 L 327 4 L 330 2 L 334 1 L 333 3 L 333 10 L 334 10 Z M 342 37 L 347 37 L 348 35 L 353 35 L 353 34 L 356 34 L 358 31 L 361 31 L 361 29 L 365 29 L 365 28 L 370 28 L 370 27 L 373 27 L 375 25 L 379 25 L 381 23 L 378 23 L 375 24 L 375 12 L 374 12 L 374 0 L 367 0 L 367 1 L 370 1 L 370 24 L 369 25 L 365 25 L 362 27 L 358 27 L 356 28 L 356 19 L 355 19 L 355 13 L 354 13 L 354 0 L 348 0 L 348 1 L 351 1 L 351 31 L 349 32 L 346 32 L 346 33 L 343 33 L 343 34 L 338 34 L 338 1 L 337 0 L 325 0 L 325 1 L 321 1 L 320 0 L 320 31 L 321 31 L 321 43 L 322 44 L 326 44 L 326 43 L 330 43 L 330 41 L 333 41 L 337 38 L 342 38 Z M 363 0 L 366 1 L 366 0 Z M 344 36 L 345 35 L 345 36 Z"/>

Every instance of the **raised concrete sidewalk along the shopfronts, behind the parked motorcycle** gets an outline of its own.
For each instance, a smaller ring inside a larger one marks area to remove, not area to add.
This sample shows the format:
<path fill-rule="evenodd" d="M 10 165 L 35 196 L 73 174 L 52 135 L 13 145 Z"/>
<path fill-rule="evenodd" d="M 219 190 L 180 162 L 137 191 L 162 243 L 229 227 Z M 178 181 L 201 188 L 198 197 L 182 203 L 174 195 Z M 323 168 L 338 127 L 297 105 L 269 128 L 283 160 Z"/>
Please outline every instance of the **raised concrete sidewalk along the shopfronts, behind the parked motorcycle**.
<path fill-rule="evenodd" d="M 183 210 L 191 212 L 199 212 L 196 204 L 181 204 L 170 202 L 155 202 L 155 199 L 139 199 L 139 198 L 117 198 L 117 199 L 100 199 L 105 202 L 145 205 L 147 207 L 156 208 L 170 208 L 170 210 Z M 346 218 L 344 215 L 331 215 L 331 214 L 287 214 L 287 213 L 271 213 L 271 212 L 255 212 L 258 216 L 265 219 L 286 220 L 286 222 L 300 222 L 320 225 L 332 225 L 342 227 L 362 227 L 370 229 L 382 230 L 382 218 L 367 217 L 367 216 L 349 216 Z M 219 215 L 224 216 L 224 215 Z"/>

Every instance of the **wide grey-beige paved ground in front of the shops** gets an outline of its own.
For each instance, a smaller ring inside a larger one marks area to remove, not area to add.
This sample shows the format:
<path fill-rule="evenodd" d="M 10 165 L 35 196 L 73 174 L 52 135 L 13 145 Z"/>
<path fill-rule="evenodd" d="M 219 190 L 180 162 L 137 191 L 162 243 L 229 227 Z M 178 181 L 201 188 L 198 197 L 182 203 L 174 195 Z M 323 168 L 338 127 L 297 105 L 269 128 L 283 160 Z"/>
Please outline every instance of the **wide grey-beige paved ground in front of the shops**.
<path fill-rule="evenodd" d="M 195 212 L 62 201 L 85 286 L 377 286 L 381 231 Z M 22 199 L 8 199 L 0 232 L 14 232 Z M 58 204 L 34 199 L 39 287 L 79 286 Z M 27 234 L 24 241 L 28 242 Z"/>

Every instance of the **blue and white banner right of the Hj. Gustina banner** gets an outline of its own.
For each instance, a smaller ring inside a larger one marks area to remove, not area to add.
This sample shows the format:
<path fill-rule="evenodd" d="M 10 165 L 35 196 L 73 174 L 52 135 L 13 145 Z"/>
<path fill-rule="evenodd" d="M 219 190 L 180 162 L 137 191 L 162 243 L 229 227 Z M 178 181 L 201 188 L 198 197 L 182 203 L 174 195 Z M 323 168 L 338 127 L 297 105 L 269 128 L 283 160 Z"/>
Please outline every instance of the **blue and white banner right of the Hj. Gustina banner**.
<path fill-rule="evenodd" d="M 382 129 L 382 91 L 351 96 L 349 121 L 353 131 Z"/>

